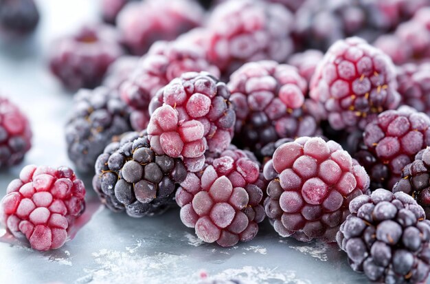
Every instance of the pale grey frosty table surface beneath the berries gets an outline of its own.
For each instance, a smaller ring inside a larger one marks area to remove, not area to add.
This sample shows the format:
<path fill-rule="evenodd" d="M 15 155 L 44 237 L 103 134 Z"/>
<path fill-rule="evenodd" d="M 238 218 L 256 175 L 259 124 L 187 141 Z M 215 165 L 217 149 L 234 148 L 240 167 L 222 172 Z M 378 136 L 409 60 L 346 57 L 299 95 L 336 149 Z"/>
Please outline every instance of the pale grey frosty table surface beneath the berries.
<path fill-rule="evenodd" d="M 47 71 L 46 57 L 52 39 L 95 19 L 97 6 L 88 0 L 38 3 L 42 19 L 34 36 L 0 39 L 0 94 L 21 106 L 34 131 L 25 161 L 0 172 L 1 196 L 25 164 L 72 166 L 63 132 L 72 97 Z M 82 179 L 89 203 L 97 205 L 91 177 Z M 132 219 L 100 208 L 73 241 L 51 252 L 0 243 L 0 283 L 180 284 L 195 283 L 203 271 L 250 283 L 367 283 L 336 245 L 282 239 L 265 223 L 253 241 L 220 248 L 199 241 L 182 225 L 179 210 Z"/>

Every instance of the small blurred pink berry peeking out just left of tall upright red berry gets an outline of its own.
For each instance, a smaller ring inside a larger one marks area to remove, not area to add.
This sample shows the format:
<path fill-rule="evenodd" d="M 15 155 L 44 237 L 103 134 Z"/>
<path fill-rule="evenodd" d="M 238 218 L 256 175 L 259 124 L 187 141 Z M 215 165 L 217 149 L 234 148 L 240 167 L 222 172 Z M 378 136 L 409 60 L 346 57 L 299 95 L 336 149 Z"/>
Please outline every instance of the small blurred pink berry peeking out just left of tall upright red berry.
<path fill-rule="evenodd" d="M 296 67 L 299 70 L 300 76 L 310 83 L 310 79 L 315 73 L 315 69 L 323 56 L 324 54 L 319 50 L 306 50 L 305 52 L 293 54 L 288 58 L 287 62 L 289 65 Z"/>

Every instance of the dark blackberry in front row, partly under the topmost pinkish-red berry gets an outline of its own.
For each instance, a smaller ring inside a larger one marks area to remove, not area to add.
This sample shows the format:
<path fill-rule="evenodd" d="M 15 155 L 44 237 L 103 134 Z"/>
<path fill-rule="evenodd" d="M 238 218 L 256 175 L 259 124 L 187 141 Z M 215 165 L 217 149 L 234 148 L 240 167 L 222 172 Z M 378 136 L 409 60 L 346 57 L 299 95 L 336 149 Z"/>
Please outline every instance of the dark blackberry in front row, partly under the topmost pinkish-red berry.
<path fill-rule="evenodd" d="M 146 131 L 131 132 L 98 157 L 93 188 L 114 212 L 151 216 L 175 204 L 174 194 L 186 176 L 181 159 L 158 155 L 150 148 Z"/>

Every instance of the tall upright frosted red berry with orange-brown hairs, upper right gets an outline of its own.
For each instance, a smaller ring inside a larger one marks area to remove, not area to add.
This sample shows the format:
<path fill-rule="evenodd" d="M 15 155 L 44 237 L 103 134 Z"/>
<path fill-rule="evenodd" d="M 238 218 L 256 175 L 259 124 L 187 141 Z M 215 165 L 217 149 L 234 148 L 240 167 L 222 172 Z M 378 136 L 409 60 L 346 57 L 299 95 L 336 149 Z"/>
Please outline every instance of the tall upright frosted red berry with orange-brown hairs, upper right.
<path fill-rule="evenodd" d="M 364 129 L 400 102 L 391 59 L 357 37 L 337 41 L 324 55 L 310 83 L 310 97 L 322 102 L 335 129 Z"/>

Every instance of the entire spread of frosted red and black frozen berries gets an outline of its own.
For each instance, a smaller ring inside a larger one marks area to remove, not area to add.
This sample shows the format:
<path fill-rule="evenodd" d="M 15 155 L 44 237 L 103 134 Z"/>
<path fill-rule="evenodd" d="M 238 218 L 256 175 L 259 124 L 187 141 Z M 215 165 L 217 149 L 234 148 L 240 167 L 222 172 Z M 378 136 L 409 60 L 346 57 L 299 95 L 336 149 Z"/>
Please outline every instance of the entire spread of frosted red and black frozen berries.
<path fill-rule="evenodd" d="M 104 0 L 105 23 L 53 45 L 63 85 L 93 88 L 75 94 L 65 136 L 101 203 L 131 217 L 179 206 L 222 247 L 267 219 L 280 237 L 337 241 L 371 281 L 423 283 L 430 0 L 200 2 L 207 14 L 194 0 Z M 0 29 L 32 30 L 35 9 L 0 0 Z M 0 98 L 1 168 L 23 160 L 31 136 Z M 70 168 L 25 166 L 0 221 L 56 249 L 84 195 Z"/>

